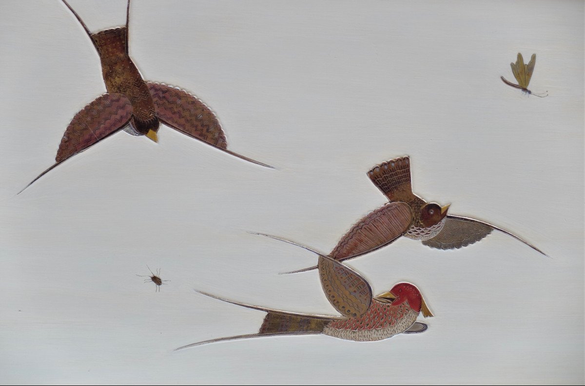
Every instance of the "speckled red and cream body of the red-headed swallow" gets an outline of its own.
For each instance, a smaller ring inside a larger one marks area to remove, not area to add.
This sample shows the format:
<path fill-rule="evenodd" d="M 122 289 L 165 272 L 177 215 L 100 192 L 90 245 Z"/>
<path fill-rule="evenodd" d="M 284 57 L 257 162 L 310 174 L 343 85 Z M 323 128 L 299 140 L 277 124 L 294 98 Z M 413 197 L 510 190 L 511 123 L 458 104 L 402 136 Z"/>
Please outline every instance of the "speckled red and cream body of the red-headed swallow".
<path fill-rule="evenodd" d="M 373 300 L 366 315 L 346 320 L 332 320 L 323 333 L 339 339 L 372 342 L 387 339 L 407 330 L 417 320 L 418 312 L 407 302 L 398 306 Z"/>

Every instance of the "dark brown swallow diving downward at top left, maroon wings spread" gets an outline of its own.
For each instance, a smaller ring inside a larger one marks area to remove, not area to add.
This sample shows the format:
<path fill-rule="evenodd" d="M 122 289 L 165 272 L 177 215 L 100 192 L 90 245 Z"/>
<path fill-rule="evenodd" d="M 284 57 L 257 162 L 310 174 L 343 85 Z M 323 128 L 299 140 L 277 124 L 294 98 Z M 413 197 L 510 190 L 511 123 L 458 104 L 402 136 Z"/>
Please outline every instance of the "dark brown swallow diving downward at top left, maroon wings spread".
<path fill-rule="evenodd" d="M 199 99 L 176 87 L 143 80 L 128 51 L 130 0 L 126 7 L 126 26 L 97 33 L 91 33 L 73 8 L 65 0 L 63 3 L 73 12 L 94 44 L 108 92 L 74 116 L 61 139 L 56 163 L 24 189 L 71 156 L 119 130 L 158 142 L 160 123 L 232 156 L 271 168 L 227 150 L 225 134 L 217 117 Z"/>

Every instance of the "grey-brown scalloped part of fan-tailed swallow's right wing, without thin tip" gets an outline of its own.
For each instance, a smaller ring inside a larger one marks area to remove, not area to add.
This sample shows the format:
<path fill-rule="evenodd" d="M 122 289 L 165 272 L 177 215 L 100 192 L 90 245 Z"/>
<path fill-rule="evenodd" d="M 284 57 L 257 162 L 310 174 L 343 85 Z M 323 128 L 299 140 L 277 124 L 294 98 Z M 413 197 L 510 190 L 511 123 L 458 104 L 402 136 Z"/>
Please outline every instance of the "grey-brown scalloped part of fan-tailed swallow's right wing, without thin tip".
<path fill-rule="evenodd" d="M 483 239 L 493 228 L 481 223 L 448 218 L 438 235 L 422 242 L 437 249 L 459 249 Z"/>

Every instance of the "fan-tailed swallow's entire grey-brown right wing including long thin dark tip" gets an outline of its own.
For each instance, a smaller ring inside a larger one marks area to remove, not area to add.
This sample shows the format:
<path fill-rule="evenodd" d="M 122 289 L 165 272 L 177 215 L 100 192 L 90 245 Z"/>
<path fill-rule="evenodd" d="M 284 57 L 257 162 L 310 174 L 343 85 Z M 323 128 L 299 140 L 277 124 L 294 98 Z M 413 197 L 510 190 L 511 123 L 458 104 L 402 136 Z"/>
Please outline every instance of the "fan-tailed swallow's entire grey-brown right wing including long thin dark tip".
<path fill-rule="evenodd" d="M 438 249 L 460 248 L 478 242 L 489 235 L 493 229 L 499 230 L 508 236 L 512 236 L 519 242 L 522 242 L 535 251 L 547 256 L 546 253 L 536 248 L 534 245 L 522 240 L 520 237 L 508 232 L 507 230 L 480 220 L 453 215 L 447 215 L 445 226 L 443 226 L 443 229 L 438 235 L 432 239 L 425 240 L 422 243 L 431 248 Z"/>

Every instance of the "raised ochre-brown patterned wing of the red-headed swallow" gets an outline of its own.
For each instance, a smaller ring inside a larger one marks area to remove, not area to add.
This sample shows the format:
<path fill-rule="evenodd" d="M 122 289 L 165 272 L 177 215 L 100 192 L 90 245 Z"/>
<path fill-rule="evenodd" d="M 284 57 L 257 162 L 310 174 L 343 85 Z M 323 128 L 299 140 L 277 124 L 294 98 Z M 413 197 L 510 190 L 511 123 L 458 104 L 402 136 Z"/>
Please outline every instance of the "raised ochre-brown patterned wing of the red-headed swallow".
<path fill-rule="evenodd" d="M 357 318 L 368 311 L 372 291 L 366 279 L 331 257 L 319 256 L 319 278 L 329 303 L 347 318 Z"/>

